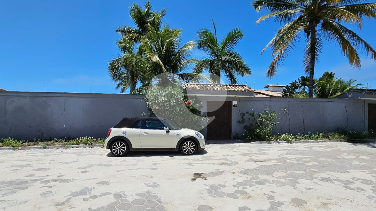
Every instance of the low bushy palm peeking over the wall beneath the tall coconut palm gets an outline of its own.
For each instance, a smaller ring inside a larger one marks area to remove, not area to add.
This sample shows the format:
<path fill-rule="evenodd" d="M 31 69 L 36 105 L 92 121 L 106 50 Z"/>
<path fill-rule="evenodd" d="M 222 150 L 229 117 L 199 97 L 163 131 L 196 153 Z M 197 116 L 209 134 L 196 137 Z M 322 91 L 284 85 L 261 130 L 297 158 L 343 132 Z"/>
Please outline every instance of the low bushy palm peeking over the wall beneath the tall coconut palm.
<path fill-rule="evenodd" d="M 314 87 L 315 97 L 317 98 L 335 98 L 348 92 L 350 89 L 357 89 L 363 84 L 357 83 L 356 80 L 344 81 L 342 78 L 334 78 L 333 72 L 324 72 L 324 74 L 316 80 Z M 360 87 L 365 88 L 365 87 Z"/>

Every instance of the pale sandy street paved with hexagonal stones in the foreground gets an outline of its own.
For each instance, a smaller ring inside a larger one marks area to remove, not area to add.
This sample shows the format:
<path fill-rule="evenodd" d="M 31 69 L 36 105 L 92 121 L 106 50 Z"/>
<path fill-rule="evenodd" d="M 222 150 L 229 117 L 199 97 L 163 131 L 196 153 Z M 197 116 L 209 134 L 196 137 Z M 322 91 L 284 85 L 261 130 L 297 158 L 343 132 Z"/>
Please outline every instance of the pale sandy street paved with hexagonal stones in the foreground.
<path fill-rule="evenodd" d="M 376 210 L 376 143 L 206 151 L 0 151 L 0 210 Z"/>

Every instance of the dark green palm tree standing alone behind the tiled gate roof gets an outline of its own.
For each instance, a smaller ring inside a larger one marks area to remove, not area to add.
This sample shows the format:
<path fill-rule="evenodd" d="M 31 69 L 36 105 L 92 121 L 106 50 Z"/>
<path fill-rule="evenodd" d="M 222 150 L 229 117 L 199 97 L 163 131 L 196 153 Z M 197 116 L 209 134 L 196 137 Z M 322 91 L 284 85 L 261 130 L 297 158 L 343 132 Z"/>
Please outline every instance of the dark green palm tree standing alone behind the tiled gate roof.
<path fill-rule="evenodd" d="M 204 50 L 210 58 L 204 57 L 198 61 L 194 67 L 195 73 L 202 73 L 204 71 L 211 74 L 211 79 L 215 83 L 220 83 L 221 72 L 226 75 L 226 78 L 232 84 L 237 83 L 237 74 L 241 76 L 250 75 L 251 71 L 244 62 L 243 58 L 233 48 L 243 38 L 243 32 L 235 28 L 230 31 L 222 41 L 218 42 L 217 30 L 213 20 L 214 34 L 208 29 L 200 29 L 197 32 L 199 37 L 197 47 Z M 218 77 L 215 77 L 217 75 Z"/>

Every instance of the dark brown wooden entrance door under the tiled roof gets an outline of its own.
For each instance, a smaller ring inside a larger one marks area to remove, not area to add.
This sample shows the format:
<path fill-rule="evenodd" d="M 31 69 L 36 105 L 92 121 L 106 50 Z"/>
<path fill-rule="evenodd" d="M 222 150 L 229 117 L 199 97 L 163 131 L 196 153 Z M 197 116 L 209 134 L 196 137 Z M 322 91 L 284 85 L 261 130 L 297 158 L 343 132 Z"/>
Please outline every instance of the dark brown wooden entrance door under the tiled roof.
<path fill-rule="evenodd" d="M 221 101 L 207 101 L 208 110 L 213 110 Z M 215 119 L 206 127 L 207 139 L 231 139 L 231 101 L 225 101 L 223 105 L 213 111 L 208 112 L 209 119 L 215 116 Z"/>

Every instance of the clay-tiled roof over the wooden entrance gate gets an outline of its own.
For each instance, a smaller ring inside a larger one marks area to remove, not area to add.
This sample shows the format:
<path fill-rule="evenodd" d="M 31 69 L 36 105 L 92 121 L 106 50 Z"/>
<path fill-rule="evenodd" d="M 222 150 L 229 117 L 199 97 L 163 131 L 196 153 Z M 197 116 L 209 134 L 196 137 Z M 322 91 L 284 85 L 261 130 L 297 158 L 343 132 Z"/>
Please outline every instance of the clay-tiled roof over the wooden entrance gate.
<path fill-rule="evenodd" d="M 253 92 L 247 84 L 182 83 L 184 90 Z"/>

